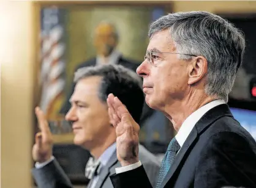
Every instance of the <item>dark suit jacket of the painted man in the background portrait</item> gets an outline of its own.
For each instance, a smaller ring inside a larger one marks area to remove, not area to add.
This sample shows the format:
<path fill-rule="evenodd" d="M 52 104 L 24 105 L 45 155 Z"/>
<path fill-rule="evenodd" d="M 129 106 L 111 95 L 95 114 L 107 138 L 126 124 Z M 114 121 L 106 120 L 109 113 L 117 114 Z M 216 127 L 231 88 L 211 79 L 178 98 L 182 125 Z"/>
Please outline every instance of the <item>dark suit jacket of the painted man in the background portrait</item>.
<path fill-rule="evenodd" d="M 126 68 L 129 68 L 130 70 L 133 70 L 133 71 L 136 71 L 138 65 L 140 65 L 139 63 L 135 63 L 135 62 L 132 62 L 131 60 L 124 59 L 124 57 L 122 57 L 122 56 L 119 57 L 117 64 L 122 65 Z M 79 68 L 94 67 L 94 66 L 96 66 L 96 57 L 94 57 L 93 59 L 90 59 L 86 62 L 81 63 L 80 65 L 78 65 L 77 68 L 75 68 L 75 71 L 77 71 Z M 61 114 L 67 114 L 67 112 L 69 111 L 69 109 L 71 107 L 71 104 L 69 103 L 69 99 L 70 99 L 74 89 L 75 89 L 75 83 L 72 84 L 72 87 L 69 90 L 67 98 L 61 107 L 61 110 L 60 110 Z"/>

